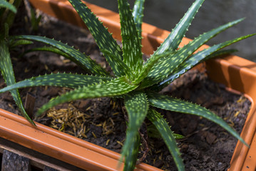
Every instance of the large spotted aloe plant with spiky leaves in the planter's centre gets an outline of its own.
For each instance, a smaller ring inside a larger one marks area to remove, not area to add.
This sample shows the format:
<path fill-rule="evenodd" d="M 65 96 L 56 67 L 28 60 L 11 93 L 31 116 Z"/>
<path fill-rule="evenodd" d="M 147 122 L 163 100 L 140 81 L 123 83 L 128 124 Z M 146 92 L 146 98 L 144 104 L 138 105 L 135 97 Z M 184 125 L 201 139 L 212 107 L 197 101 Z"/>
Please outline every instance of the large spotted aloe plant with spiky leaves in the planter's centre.
<path fill-rule="evenodd" d="M 220 49 L 252 36 L 235 38 L 195 53 L 210 38 L 234 26 L 242 21 L 242 19 L 203 33 L 187 45 L 178 48 L 183 36 L 185 36 L 185 32 L 188 30 L 188 26 L 190 26 L 191 21 L 204 1 L 195 0 L 190 9 L 188 9 L 188 12 L 183 16 L 183 19 L 173 28 L 168 38 L 150 56 L 148 61 L 144 62 L 141 51 L 141 24 L 144 0 L 136 0 L 133 11 L 130 10 L 127 0 L 118 0 L 123 48 L 118 46 L 111 33 L 107 31 L 101 21 L 88 9 L 86 4 L 83 4 L 80 0 L 68 1 L 70 1 L 89 31 L 91 31 L 96 43 L 111 66 L 114 76 L 111 76 L 110 73 L 91 60 L 89 56 L 65 43 L 40 36 L 12 36 L 8 39 L 11 42 L 27 40 L 46 43 L 48 46 L 34 48 L 31 51 L 51 51 L 61 54 L 87 71 L 91 71 L 92 75 L 51 73 L 45 76 L 29 78 L 19 83 L 11 83 L 6 88 L 2 88 L 0 93 L 29 86 L 63 86 L 74 88 L 74 90 L 53 98 L 43 105 L 36 115 L 40 115 L 55 105 L 71 100 L 99 97 L 121 98 L 124 100 L 128 113 L 126 141 L 121 152 L 121 158 L 125 158 L 124 170 L 133 170 L 135 167 L 138 147 L 140 145 L 139 130 L 145 118 L 148 118 L 155 125 L 168 150 L 173 155 L 173 160 L 178 170 L 185 170 L 175 141 L 175 135 L 163 116 L 155 108 L 206 118 L 225 128 L 227 132 L 245 143 L 230 125 L 225 123 L 215 113 L 210 112 L 210 110 L 200 105 L 158 93 L 160 88 L 168 85 L 198 63 L 219 53 L 230 52 L 220 51 Z"/>

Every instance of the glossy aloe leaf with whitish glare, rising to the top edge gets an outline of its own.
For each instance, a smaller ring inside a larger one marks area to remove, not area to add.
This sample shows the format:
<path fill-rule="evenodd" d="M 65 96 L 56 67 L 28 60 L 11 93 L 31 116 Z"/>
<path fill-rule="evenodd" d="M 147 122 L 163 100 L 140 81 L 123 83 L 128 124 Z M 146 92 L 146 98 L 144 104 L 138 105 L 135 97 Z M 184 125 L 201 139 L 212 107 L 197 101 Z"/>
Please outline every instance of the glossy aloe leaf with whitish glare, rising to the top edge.
<path fill-rule="evenodd" d="M 200 6 L 203 4 L 203 1 L 204 0 L 197 0 L 190 6 L 190 9 L 188 9 L 187 13 L 180 19 L 180 22 L 173 28 L 168 38 L 165 39 L 154 54 L 160 54 L 164 51 L 173 52 L 178 48 L 195 14 L 198 13 L 198 9 L 200 9 Z"/>

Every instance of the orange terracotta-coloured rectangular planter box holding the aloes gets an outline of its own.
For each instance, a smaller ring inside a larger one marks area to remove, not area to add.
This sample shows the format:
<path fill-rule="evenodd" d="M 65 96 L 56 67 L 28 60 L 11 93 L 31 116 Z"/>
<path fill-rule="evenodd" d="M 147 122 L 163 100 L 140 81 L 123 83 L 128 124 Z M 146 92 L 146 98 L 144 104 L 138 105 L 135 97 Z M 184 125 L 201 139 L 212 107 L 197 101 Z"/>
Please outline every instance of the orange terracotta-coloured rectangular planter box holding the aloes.
<path fill-rule="evenodd" d="M 30 0 L 37 9 L 56 16 L 77 26 L 86 27 L 76 11 L 66 0 Z M 98 15 L 114 38 L 121 39 L 119 16 L 112 11 L 88 4 L 89 8 Z M 143 53 L 150 54 L 163 42 L 169 34 L 149 24 L 143 24 Z M 184 38 L 183 43 L 189 39 Z M 202 48 L 205 48 L 204 46 Z M 252 102 L 250 113 L 247 115 L 241 137 L 251 147 L 247 148 L 242 142 L 237 142 L 235 152 L 230 161 L 230 170 L 255 170 L 256 167 L 256 63 L 237 56 L 215 59 L 206 63 L 210 78 L 223 83 L 230 90 L 245 93 Z M 0 136 L 17 142 L 58 160 L 68 162 L 85 170 L 116 170 L 119 154 L 90 142 L 74 138 L 53 128 L 36 123 L 32 126 L 25 118 L 0 110 Z M 254 144 L 253 144 L 254 142 Z M 159 170 L 146 164 L 137 166 L 137 170 Z"/>

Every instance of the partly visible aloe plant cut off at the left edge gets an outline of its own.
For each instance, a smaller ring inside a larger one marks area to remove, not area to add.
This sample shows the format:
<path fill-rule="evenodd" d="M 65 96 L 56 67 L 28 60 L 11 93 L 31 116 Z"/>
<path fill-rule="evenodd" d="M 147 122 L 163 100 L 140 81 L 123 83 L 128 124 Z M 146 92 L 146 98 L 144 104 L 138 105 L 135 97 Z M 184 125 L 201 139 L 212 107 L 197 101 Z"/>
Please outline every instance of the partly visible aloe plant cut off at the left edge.
<path fill-rule="evenodd" d="M 9 28 L 13 24 L 14 16 L 17 12 L 17 8 L 21 4 L 21 0 L 0 0 L 0 71 L 1 75 L 4 77 L 4 81 L 6 82 L 7 86 L 10 86 L 14 83 L 14 70 L 11 65 L 11 57 L 10 57 L 10 49 L 18 46 L 19 44 L 26 44 L 26 43 L 33 43 L 31 41 L 26 40 L 18 40 L 18 41 L 9 41 Z M 33 125 L 34 122 L 29 118 L 27 115 L 24 105 L 22 104 L 19 91 L 10 90 L 11 95 L 14 98 L 16 105 L 18 106 L 21 113 L 24 117 L 29 120 L 29 122 Z"/>

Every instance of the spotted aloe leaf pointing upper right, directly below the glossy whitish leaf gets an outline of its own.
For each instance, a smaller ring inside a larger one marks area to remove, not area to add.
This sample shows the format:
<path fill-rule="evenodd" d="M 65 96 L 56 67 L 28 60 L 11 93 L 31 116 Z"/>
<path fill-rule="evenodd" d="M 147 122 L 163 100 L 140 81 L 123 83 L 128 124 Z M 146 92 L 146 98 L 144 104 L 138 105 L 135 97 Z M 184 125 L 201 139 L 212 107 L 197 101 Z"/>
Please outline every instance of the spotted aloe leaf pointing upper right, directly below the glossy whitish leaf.
<path fill-rule="evenodd" d="M 163 79 L 167 78 L 175 68 L 178 68 L 183 61 L 185 61 L 188 56 L 194 53 L 200 46 L 213 38 L 221 31 L 225 31 L 225 29 L 234 26 L 235 24 L 239 23 L 243 19 L 238 19 L 236 21 L 232 21 L 228 24 L 222 25 L 218 28 L 215 28 L 207 33 L 203 33 L 202 35 L 195 38 L 193 41 L 190 41 L 187 45 L 180 48 L 176 53 L 170 55 L 166 58 L 163 58 L 158 61 L 158 63 L 153 66 L 148 76 L 143 81 L 141 87 L 152 86 L 155 83 L 159 83 L 163 81 Z"/>

